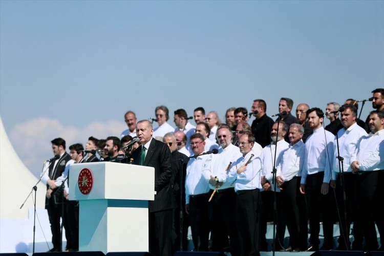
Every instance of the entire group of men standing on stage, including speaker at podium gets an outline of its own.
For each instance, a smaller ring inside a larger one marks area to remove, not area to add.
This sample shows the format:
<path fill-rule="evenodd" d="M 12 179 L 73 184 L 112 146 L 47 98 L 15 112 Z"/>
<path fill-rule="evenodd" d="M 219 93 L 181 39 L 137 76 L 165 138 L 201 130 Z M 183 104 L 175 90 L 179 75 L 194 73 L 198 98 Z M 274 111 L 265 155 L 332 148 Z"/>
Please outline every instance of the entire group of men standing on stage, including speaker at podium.
<path fill-rule="evenodd" d="M 365 122 L 357 118 L 354 99 L 341 106 L 330 102 L 326 113 L 300 103 L 294 117 L 293 100 L 281 98 L 276 120 L 266 115 L 266 102 L 255 99 L 249 113 L 243 107 L 228 109 L 223 123 L 217 112 L 206 114 L 199 107 L 194 126 L 189 122 L 193 117 L 178 109 L 176 129 L 168 124 L 164 105 L 155 109 L 152 122 L 137 121 L 128 111 L 128 129 L 120 138 L 91 136 L 85 150 L 76 143 L 69 147 L 70 154 L 65 140 L 56 138 L 51 141 L 55 157 L 42 174 L 50 251 L 62 249 L 60 218 L 66 250 L 78 250 L 78 204 L 68 200 L 73 184 L 67 178 L 71 164 L 93 161 L 155 168 L 156 196 L 148 205 L 149 248 L 155 255 L 186 250 L 188 226 L 196 251 L 260 255 L 268 249 L 269 221 L 276 225 L 275 251 L 384 250 L 384 212 L 379 206 L 384 197 L 384 89 L 372 93 L 374 110 Z M 249 125 L 251 116 L 255 119 Z M 327 126 L 324 117 L 330 119 Z M 324 242 L 319 247 L 321 223 Z M 337 246 L 334 223 L 340 229 Z"/>

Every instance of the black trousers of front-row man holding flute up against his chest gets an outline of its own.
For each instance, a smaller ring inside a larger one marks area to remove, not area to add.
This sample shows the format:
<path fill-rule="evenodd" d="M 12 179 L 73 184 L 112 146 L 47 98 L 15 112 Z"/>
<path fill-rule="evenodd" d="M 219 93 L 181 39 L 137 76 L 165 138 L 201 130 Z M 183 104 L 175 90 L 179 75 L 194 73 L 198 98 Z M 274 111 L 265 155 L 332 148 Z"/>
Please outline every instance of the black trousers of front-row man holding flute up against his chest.
<path fill-rule="evenodd" d="M 260 205 L 260 189 L 237 191 L 236 222 L 242 255 L 260 255 Z"/>

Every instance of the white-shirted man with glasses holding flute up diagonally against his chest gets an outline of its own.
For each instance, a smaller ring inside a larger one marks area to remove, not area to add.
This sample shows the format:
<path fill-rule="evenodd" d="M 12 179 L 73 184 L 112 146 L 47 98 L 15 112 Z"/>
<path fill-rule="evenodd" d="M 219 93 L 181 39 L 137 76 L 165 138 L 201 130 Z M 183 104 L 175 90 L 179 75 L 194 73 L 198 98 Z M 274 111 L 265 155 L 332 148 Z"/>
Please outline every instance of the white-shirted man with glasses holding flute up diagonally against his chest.
<path fill-rule="evenodd" d="M 259 222 L 261 206 L 261 168 L 259 156 L 252 151 L 254 136 L 243 134 L 239 140 L 243 154 L 232 164 L 228 182 L 234 182 L 236 191 L 236 222 L 238 224 L 242 255 L 260 255 Z"/>

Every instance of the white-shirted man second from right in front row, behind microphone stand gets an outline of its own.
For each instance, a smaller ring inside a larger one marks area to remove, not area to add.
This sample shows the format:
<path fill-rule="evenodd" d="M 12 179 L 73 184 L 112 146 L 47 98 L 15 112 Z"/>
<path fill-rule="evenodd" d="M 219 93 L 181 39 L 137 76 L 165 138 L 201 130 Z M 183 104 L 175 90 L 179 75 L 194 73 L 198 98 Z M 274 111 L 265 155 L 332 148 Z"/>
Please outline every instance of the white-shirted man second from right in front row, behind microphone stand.
<path fill-rule="evenodd" d="M 339 245 L 336 248 L 337 250 L 350 249 L 350 225 L 353 221 L 354 209 L 358 207 L 355 200 L 355 177 L 352 174 L 351 163 L 352 158 L 355 158 L 353 155 L 356 154 L 357 142 L 361 137 L 367 136 L 366 131 L 356 123 L 356 107 L 351 104 L 344 105 L 344 107 L 345 109 L 341 113 L 341 123 L 344 128 L 337 132 L 333 142 L 334 160 L 331 180 L 331 186 L 336 192 L 337 206 L 339 209 L 340 237 L 338 239 Z M 341 159 L 343 159 L 343 161 L 341 161 Z M 353 235 L 355 238 L 353 241 L 353 249 L 362 248 L 361 229 L 359 228 L 359 224 L 357 224 L 358 221 L 358 219 L 355 219 L 353 225 Z M 347 234 L 347 236 L 344 234 Z"/>

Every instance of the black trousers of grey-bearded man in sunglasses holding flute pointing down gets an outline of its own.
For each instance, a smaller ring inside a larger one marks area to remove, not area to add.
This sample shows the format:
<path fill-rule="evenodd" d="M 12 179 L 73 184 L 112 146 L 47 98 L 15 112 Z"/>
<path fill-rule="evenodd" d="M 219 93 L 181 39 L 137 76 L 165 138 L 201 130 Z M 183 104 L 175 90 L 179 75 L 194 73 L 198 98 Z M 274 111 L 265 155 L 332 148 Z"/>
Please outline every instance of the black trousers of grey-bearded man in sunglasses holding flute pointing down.
<path fill-rule="evenodd" d="M 213 190 L 209 191 L 209 195 Z M 209 203 L 212 251 L 224 251 L 230 246 L 231 255 L 240 255 L 236 228 L 236 193 L 233 188 L 217 190 Z M 228 241 L 229 236 L 229 241 Z"/>

